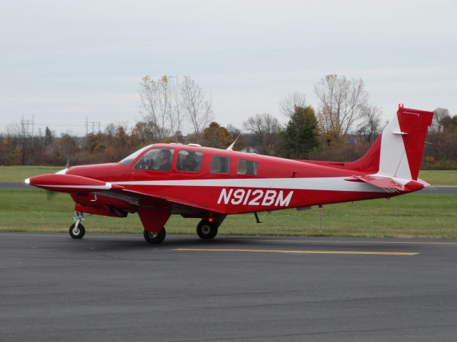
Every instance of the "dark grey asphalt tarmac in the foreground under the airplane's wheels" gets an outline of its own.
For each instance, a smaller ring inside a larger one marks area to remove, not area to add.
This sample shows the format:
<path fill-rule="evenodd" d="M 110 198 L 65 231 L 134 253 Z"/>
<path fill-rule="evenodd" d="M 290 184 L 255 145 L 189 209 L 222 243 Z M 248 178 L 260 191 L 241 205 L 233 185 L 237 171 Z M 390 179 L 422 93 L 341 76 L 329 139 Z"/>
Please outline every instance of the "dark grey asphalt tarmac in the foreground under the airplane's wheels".
<path fill-rule="evenodd" d="M 457 240 L 0 234 L 0 341 L 456 341 Z"/>

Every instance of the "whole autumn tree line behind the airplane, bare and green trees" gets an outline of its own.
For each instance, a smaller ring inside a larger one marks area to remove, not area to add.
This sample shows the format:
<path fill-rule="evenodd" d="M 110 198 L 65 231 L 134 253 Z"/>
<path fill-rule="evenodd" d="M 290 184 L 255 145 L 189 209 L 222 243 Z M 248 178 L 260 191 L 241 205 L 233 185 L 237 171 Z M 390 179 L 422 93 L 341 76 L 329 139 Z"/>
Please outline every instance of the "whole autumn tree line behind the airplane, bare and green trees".
<path fill-rule="evenodd" d="M 303 93 L 279 101 L 282 125 L 269 113 L 256 113 L 241 128 L 214 121 L 211 95 L 189 76 L 144 76 L 139 83 L 143 118 L 131 129 L 107 125 L 84 137 L 50 128 L 31 135 L 19 125 L 0 135 L 0 165 L 71 165 L 116 162 L 155 142 L 199 143 L 292 159 L 349 161 L 361 157 L 386 125 L 368 101 L 361 79 L 327 75 L 314 85 L 316 107 Z M 184 131 L 190 132 L 186 135 Z M 422 167 L 457 169 L 457 115 L 437 108 L 428 131 Z"/>

